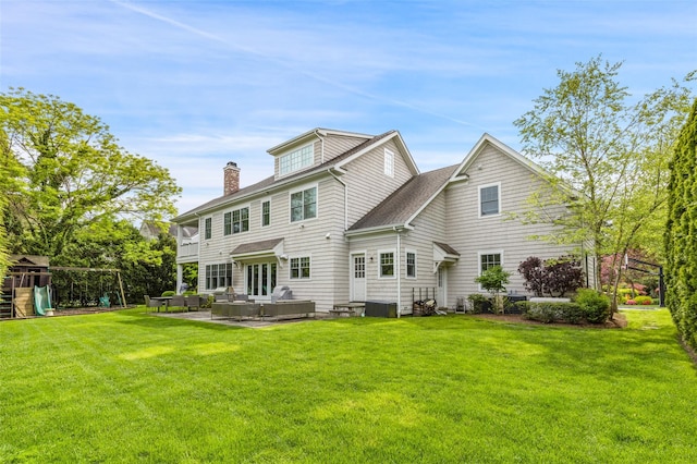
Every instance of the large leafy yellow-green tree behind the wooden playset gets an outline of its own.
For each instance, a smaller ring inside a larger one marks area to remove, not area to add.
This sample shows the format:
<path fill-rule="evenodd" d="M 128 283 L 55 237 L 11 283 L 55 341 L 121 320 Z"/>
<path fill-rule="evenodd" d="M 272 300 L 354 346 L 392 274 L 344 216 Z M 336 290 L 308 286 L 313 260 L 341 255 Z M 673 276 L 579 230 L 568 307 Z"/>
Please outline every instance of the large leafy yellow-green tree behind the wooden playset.
<path fill-rule="evenodd" d="M 0 94 L 0 141 L 15 173 L 2 184 L 13 253 L 64 264 L 90 224 L 174 213 L 181 190 L 167 169 L 126 151 L 98 118 L 56 96 Z"/>

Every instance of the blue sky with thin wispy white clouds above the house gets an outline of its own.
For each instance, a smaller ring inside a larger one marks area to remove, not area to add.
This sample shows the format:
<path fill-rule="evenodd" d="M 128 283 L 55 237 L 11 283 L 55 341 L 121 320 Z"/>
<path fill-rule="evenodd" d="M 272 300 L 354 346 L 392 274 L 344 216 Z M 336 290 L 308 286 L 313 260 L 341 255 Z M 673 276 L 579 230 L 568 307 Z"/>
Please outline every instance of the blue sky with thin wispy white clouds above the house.
<path fill-rule="evenodd" d="M 272 173 L 314 127 L 402 133 L 421 172 L 462 161 L 602 53 L 636 96 L 697 69 L 697 2 L 0 0 L 0 91 L 52 94 L 183 187 L 180 212 Z"/>

